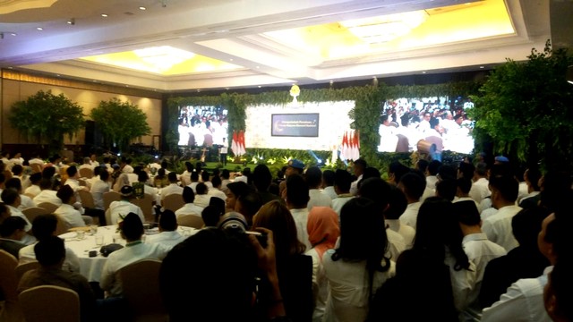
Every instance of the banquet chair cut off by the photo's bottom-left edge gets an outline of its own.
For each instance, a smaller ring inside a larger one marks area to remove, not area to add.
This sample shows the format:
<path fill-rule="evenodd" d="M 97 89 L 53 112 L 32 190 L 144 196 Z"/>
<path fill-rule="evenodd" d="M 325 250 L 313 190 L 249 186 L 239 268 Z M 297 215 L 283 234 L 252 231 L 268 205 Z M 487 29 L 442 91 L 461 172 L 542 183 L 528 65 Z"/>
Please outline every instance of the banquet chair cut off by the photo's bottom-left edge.
<path fill-rule="evenodd" d="M 0 250 L 0 301 L 3 302 L 0 309 L 0 321 L 24 320 L 18 301 L 18 281 L 15 268 L 18 259 L 5 250 Z"/>

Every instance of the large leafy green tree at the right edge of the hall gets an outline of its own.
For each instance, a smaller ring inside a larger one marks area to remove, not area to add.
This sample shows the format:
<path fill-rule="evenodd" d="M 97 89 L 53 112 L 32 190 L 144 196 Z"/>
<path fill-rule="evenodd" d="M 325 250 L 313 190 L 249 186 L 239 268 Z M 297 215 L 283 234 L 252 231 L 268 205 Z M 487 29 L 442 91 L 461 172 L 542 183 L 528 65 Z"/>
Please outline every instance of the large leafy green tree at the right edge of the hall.
<path fill-rule="evenodd" d="M 474 97 L 476 141 L 529 166 L 571 165 L 573 86 L 566 73 L 573 57 L 552 50 L 549 40 L 527 57 L 497 67 Z"/>

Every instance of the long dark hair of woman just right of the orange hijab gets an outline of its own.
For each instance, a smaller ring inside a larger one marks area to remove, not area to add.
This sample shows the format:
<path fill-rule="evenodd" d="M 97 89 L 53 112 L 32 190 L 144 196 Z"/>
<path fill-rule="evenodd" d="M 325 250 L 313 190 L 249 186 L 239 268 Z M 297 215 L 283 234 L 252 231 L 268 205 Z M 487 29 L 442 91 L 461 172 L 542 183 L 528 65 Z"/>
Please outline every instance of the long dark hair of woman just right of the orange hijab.
<path fill-rule="evenodd" d="M 387 247 L 384 217 L 378 206 L 363 197 L 348 200 L 340 210 L 340 244 L 332 259 L 367 260 L 368 266 L 381 270 Z"/>

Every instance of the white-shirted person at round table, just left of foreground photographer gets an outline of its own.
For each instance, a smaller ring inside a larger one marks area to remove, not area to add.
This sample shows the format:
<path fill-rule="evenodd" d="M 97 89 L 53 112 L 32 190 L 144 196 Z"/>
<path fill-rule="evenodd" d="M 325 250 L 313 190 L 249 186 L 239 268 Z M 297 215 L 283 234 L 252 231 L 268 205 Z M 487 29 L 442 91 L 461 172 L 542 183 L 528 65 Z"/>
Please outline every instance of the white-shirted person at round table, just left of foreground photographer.
<path fill-rule="evenodd" d="M 160 243 L 141 242 L 143 223 L 140 216 L 128 213 L 121 225 L 122 238 L 127 242 L 121 250 L 115 250 L 107 257 L 106 264 L 101 271 L 99 287 L 107 296 L 122 296 L 123 289 L 119 270 L 141 259 L 163 260 L 169 249 Z"/>

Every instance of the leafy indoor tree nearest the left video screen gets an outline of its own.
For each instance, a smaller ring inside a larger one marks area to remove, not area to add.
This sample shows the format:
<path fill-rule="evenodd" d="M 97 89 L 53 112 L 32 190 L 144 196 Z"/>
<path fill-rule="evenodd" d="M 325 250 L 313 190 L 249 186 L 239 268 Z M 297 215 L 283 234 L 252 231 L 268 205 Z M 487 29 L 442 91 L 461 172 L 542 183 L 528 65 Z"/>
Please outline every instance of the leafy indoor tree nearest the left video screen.
<path fill-rule="evenodd" d="M 151 133 L 147 115 L 138 106 L 117 98 L 101 101 L 92 109 L 91 119 L 97 124 L 108 145 L 125 150 L 131 140 Z"/>

